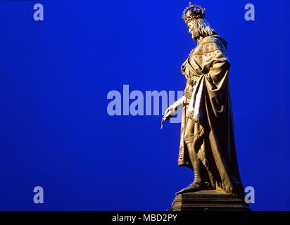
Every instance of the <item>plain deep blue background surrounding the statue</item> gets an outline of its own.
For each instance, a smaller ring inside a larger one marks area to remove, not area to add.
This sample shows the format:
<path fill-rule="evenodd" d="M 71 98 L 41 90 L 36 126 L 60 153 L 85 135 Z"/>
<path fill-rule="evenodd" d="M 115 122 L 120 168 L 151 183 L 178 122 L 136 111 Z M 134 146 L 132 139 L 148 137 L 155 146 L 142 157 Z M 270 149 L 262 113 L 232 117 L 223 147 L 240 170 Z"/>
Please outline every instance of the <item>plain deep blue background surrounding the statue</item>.
<path fill-rule="evenodd" d="M 44 4 L 44 21 L 33 5 Z M 196 1 L 228 43 L 241 179 L 290 210 L 289 3 Z M 256 21 L 244 6 L 256 6 Z M 0 1 L 0 210 L 167 210 L 192 179 L 180 124 L 107 113 L 111 90 L 182 90 L 188 1 Z M 44 188 L 34 204 L 33 188 Z"/>

